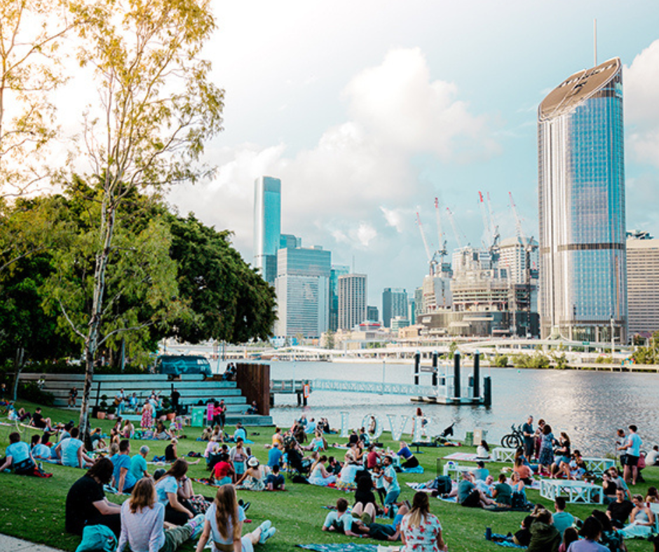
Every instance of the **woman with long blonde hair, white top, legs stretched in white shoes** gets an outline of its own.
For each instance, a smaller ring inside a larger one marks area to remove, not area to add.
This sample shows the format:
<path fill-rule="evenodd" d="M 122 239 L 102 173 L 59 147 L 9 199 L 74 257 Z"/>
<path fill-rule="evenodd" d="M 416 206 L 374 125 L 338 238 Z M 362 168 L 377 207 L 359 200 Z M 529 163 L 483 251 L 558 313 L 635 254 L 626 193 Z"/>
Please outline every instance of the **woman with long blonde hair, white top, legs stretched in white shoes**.
<path fill-rule="evenodd" d="M 196 552 L 203 552 L 208 539 L 212 539 L 212 552 L 252 552 L 254 544 L 263 544 L 276 533 L 270 520 L 266 520 L 255 531 L 240 537 L 243 532 L 245 512 L 238 506 L 236 489 L 233 485 L 222 485 L 217 489 L 215 500 L 206 510 L 206 520 Z"/>

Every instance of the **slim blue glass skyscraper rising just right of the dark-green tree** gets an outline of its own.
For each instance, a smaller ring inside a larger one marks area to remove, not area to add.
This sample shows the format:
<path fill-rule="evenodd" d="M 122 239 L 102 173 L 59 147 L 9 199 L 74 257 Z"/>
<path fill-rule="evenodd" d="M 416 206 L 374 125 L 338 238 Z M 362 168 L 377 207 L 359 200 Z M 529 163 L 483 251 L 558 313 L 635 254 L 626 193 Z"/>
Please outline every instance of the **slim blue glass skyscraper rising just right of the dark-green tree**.
<path fill-rule="evenodd" d="M 277 250 L 281 235 L 281 181 L 259 177 L 254 181 L 254 268 L 269 284 L 277 277 Z"/>

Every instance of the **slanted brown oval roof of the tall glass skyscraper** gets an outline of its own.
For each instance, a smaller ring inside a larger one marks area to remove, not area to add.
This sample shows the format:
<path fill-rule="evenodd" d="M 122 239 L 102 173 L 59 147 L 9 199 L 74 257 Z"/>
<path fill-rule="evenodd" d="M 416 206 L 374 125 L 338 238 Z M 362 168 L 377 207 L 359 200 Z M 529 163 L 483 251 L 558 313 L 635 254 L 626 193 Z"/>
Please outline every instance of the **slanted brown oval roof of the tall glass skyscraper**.
<path fill-rule="evenodd" d="M 543 121 L 571 111 L 583 99 L 595 95 L 620 70 L 620 58 L 614 57 L 592 69 L 578 71 L 552 90 L 538 108 L 538 119 Z"/>

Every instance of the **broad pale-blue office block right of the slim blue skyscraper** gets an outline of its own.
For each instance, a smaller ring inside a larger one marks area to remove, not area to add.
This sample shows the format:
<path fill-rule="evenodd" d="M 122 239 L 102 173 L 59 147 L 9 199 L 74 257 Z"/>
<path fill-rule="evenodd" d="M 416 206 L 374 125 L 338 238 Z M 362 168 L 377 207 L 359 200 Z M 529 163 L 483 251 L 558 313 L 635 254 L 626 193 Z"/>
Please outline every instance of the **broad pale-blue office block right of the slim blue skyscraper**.
<path fill-rule="evenodd" d="M 278 337 L 320 338 L 329 322 L 332 254 L 320 247 L 277 252 Z"/>

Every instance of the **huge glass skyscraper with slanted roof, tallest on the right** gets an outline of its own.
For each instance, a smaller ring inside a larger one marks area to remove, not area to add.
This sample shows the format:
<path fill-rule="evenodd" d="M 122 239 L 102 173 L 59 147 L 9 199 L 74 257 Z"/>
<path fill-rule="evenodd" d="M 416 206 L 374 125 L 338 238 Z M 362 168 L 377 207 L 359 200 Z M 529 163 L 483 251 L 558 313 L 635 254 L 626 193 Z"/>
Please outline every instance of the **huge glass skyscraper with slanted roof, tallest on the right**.
<path fill-rule="evenodd" d="M 541 334 L 627 341 L 623 74 L 579 71 L 538 108 Z"/>

